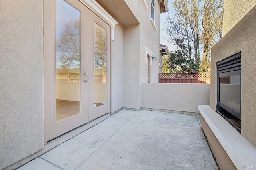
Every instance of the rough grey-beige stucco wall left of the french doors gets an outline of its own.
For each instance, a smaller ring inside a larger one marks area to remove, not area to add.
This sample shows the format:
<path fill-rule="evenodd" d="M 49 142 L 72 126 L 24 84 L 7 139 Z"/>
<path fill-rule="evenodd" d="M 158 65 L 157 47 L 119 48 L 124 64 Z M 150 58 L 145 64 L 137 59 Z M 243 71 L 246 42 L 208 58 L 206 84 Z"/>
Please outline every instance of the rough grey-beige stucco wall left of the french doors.
<path fill-rule="evenodd" d="M 43 0 L 0 2 L 0 169 L 44 147 Z"/>

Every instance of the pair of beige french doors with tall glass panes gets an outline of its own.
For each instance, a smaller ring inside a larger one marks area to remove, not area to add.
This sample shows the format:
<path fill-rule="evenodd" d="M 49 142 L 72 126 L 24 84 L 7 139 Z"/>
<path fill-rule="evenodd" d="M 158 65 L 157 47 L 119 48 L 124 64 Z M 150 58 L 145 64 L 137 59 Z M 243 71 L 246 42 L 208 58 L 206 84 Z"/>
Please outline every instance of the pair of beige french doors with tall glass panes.
<path fill-rule="evenodd" d="M 110 112 L 110 26 L 78 0 L 44 0 L 44 141 Z"/>

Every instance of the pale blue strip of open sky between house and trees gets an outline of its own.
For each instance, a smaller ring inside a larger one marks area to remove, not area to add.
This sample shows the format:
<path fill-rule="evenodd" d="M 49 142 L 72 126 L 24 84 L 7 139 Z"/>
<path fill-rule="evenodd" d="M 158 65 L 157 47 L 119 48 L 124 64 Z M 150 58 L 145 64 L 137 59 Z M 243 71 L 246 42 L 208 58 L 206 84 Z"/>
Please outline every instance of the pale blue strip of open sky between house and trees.
<path fill-rule="evenodd" d="M 172 8 L 172 0 L 168 0 L 168 7 L 169 7 L 169 12 L 165 12 L 160 14 L 160 44 L 164 44 L 168 46 L 169 51 L 173 51 L 176 49 L 175 45 L 170 44 L 166 38 L 168 39 L 168 35 L 166 33 L 165 29 L 165 22 L 166 21 L 166 16 L 168 16 L 168 14 L 171 16 L 171 14 L 174 12 L 173 8 Z"/>

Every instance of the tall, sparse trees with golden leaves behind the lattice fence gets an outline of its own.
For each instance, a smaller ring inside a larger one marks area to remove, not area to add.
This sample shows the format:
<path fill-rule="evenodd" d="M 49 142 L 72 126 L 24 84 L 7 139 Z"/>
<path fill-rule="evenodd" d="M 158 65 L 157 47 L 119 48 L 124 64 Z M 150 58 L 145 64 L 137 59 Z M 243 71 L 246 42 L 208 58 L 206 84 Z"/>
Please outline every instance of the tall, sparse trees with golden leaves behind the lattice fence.
<path fill-rule="evenodd" d="M 166 31 L 169 42 L 176 45 L 179 54 L 182 52 L 176 56 L 189 59 L 190 71 L 208 71 L 210 48 L 222 31 L 223 0 L 173 0 L 172 3 L 174 16 L 166 18 Z"/>

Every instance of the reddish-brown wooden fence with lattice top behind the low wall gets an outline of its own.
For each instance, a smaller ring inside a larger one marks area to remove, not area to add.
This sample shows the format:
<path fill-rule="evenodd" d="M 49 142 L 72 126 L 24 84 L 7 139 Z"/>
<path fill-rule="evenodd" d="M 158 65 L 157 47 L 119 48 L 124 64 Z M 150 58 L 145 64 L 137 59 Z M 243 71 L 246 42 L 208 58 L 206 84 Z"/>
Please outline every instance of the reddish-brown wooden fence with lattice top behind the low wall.
<path fill-rule="evenodd" d="M 160 73 L 159 83 L 211 83 L 211 73 Z"/>

